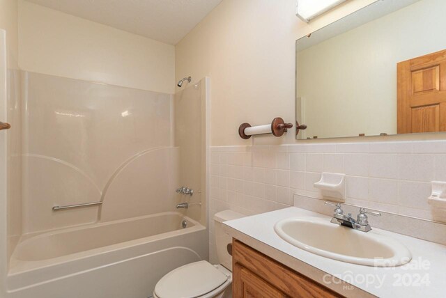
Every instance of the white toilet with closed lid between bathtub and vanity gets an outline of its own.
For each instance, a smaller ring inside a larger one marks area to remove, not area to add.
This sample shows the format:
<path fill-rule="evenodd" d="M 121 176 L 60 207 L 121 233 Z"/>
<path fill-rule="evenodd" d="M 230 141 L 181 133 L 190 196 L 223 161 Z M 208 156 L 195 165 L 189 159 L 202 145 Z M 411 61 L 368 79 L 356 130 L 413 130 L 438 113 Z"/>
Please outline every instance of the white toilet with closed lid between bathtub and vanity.
<path fill-rule="evenodd" d="M 154 298 L 229 298 L 232 283 L 232 257 L 228 245 L 232 239 L 223 232 L 222 222 L 245 215 L 224 210 L 214 215 L 215 242 L 219 265 L 193 262 L 164 275 L 155 285 Z"/>

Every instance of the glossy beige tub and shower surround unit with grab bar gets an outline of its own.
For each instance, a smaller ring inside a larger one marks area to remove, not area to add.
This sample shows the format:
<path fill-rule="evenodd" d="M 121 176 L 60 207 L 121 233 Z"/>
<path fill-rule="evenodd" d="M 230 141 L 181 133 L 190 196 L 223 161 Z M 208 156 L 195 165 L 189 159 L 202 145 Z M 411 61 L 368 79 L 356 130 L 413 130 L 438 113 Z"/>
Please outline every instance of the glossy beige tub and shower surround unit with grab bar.
<path fill-rule="evenodd" d="M 17 72 L 22 200 L 10 208 L 22 217 L 6 297 L 147 297 L 167 272 L 208 260 L 208 79 L 174 97 Z M 185 200 L 202 205 L 173 212 Z"/>

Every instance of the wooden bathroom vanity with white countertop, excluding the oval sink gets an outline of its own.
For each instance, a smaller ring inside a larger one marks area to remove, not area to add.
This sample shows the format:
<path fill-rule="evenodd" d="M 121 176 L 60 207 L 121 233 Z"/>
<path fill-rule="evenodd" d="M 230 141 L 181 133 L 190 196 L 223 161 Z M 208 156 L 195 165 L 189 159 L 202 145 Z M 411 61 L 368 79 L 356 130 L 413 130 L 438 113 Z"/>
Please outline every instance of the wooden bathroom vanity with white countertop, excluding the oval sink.
<path fill-rule="evenodd" d="M 396 267 L 358 265 L 318 256 L 286 242 L 275 231 L 277 223 L 285 219 L 330 224 L 332 217 L 289 207 L 224 223 L 224 230 L 233 237 L 233 297 L 445 297 L 445 245 L 374 228 L 372 224 L 370 232 L 355 234 L 379 235 L 399 242 L 407 247 L 412 259 Z M 332 243 L 317 230 L 306 234 L 330 242 L 328 247 L 345 245 L 362 250 L 362 243 L 349 241 L 348 237 Z"/>

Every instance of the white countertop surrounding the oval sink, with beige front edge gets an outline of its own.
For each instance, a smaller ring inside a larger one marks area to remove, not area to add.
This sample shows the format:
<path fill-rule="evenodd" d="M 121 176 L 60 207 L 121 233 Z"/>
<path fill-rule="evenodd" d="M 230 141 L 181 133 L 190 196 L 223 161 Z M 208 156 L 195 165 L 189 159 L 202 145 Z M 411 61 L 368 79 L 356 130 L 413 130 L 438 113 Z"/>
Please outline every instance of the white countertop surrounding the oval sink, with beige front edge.
<path fill-rule="evenodd" d="M 367 297 L 370 294 L 378 297 L 446 297 L 446 246 L 374 228 L 369 233 L 386 235 L 404 244 L 412 253 L 412 260 L 406 265 L 390 268 L 355 265 L 317 256 L 282 240 L 275 233 L 274 225 L 282 219 L 296 217 L 331 219 L 323 214 L 289 207 L 225 221 L 224 230 L 270 258 L 347 297 Z M 356 288 L 348 288 L 339 281 L 336 283 L 332 276 Z"/>

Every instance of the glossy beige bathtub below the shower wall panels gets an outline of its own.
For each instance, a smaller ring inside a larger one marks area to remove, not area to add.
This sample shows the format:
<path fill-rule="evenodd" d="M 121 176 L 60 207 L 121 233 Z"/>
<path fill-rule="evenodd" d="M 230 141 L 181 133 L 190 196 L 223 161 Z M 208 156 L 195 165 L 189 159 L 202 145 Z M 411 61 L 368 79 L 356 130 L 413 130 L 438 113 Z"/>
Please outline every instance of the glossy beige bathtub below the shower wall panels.
<path fill-rule="evenodd" d="M 207 243 L 206 228 L 178 212 L 25 236 L 8 297 L 147 298 L 167 272 L 207 259 Z"/>

